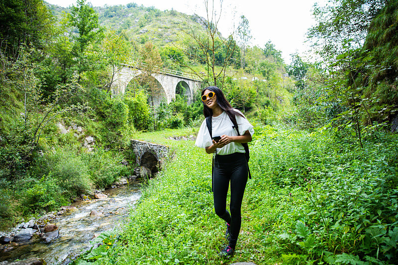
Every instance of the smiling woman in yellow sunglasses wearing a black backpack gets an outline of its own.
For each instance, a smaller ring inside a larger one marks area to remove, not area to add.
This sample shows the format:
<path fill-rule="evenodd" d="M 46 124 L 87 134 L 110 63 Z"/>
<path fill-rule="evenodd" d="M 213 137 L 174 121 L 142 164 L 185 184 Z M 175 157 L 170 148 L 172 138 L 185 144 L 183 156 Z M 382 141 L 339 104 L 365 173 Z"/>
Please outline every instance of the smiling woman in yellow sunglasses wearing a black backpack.
<path fill-rule="evenodd" d="M 243 114 L 232 108 L 221 89 L 207 87 L 201 92 L 204 117 L 211 117 L 211 136 L 206 119 L 202 122 L 195 145 L 214 155 L 212 189 L 215 213 L 226 222 L 228 240 L 220 253 L 231 257 L 235 251 L 241 226 L 241 206 L 245 191 L 248 166 L 242 143 L 252 140 L 253 126 Z M 232 120 L 236 120 L 239 134 Z M 219 136 L 219 137 L 218 137 Z M 215 140 L 214 140 L 215 139 Z M 226 209 L 229 182 L 231 183 L 230 213 Z"/>

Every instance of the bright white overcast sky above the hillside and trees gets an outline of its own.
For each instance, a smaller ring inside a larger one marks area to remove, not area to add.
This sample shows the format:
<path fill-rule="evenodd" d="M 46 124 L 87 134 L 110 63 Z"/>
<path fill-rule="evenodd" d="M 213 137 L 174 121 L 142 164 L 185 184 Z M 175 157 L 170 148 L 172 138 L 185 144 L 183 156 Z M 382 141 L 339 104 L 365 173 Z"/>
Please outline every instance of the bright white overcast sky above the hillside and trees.
<path fill-rule="evenodd" d="M 76 4 L 76 0 L 46 1 L 63 7 Z M 298 52 L 300 56 L 311 54 L 309 44 L 305 43 L 305 34 L 308 28 L 315 24 L 312 17 L 313 5 L 321 1 L 324 0 L 223 0 L 218 28 L 226 37 L 234 25 L 237 26 L 240 16 L 244 15 L 249 21 L 253 36 L 251 45 L 264 48 L 271 40 L 275 48 L 282 51 L 285 63 L 289 64 L 292 53 Z M 91 2 L 93 6 L 126 5 L 135 2 L 139 5 L 154 6 L 160 10 L 173 8 L 179 12 L 197 13 L 203 17 L 206 14 L 203 0 L 87 0 L 87 2 Z"/>

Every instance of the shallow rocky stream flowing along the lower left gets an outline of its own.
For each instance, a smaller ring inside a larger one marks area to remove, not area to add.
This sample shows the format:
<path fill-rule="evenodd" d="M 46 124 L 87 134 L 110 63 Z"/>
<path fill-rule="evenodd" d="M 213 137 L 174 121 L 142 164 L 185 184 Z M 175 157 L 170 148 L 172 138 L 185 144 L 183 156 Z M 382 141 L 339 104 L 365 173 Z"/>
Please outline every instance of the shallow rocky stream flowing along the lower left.
<path fill-rule="evenodd" d="M 59 228 L 59 238 L 49 243 L 32 238 L 27 245 L 1 253 L 0 262 L 31 257 L 41 258 L 48 265 L 67 265 L 72 262 L 76 256 L 92 247 L 90 241 L 100 233 L 122 228 L 127 222 L 129 208 L 141 196 L 138 182 L 108 189 L 103 193 L 108 197 L 76 202 L 72 206 L 77 209 L 65 211 L 51 221 Z M 102 210 L 104 216 L 91 217 L 92 210 Z"/>

